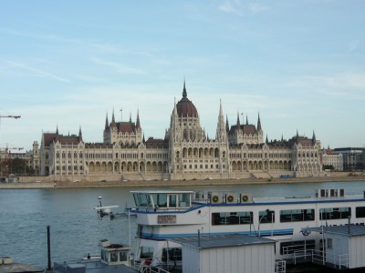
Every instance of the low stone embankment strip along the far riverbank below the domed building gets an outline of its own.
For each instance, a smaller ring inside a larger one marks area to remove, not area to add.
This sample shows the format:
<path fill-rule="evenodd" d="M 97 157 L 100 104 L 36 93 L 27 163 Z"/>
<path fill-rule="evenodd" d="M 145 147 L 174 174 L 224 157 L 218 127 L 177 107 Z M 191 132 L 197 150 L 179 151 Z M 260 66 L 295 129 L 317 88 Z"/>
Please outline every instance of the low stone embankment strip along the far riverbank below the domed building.
<path fill-rule="evenodd" d="M 331 176 L 331 177 L 287 177 L 287 178 L 245 178 L 245 179 L 207 179 L 207 180 L 144 180 L 144 181 L 97 181 L 97 182 L 19 182 L 0 183 L 0 189 L 35 189 L 35 188 L 78 188 L 78 187 L 194 187 L 194 186 L 239 186 L 292 183 L 364 181 L 365 176 Z"/>

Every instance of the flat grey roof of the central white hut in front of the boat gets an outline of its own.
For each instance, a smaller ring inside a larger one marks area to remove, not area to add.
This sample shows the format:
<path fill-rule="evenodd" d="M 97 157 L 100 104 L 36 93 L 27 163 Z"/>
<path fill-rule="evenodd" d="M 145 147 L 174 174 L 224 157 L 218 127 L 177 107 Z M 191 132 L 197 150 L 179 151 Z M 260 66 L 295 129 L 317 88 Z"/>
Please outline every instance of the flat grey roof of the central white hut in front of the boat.
<path fill-rule="evenodd" d="M 181 245 L 193 248 L 226 248 L 249 245 L 275 244 L 276 241 L 269 238 L 247 236 L 243 234 L 210 235 L 198 238 L 169 238 L 169 240 Z"/>

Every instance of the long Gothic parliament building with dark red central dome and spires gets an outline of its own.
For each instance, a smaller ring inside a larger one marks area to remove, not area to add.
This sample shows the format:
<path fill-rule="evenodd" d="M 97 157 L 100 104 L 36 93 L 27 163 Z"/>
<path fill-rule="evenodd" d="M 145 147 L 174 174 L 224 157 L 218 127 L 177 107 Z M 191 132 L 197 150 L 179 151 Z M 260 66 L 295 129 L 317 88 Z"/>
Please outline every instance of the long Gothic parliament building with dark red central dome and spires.
<path fill-rule="evenodd" d="M 163 139 L 144 139 L 139 113 L 135 122 L 106 116 L 103 141 L 84 141 L 78 135 L 42 133 L 39 174 L 57 181 L 191 180 L 270 177 L 319 177 L 320 142 L 293 136 L 264 140 L 260 116 L 256 125 L 237 120 L 229 126 L 222 103 L 217 107 L 215 137 L 200 123 L 185 83 L 183 97 L 172 107 L 170 126 Z"/>

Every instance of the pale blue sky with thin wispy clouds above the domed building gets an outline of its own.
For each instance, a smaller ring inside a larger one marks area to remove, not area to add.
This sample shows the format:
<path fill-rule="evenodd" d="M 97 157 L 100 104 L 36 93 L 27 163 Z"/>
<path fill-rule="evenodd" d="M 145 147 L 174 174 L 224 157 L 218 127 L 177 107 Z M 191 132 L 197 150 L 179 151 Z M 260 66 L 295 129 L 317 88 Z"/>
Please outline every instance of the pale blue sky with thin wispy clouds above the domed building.
<path fill-rule="evenodd" d="M 163 138 L 174 101 L 213 138 L 222 102 L 264 137 L 365 147 L 365 1 L 0 2 L 0 148 L 102 142 L 106 116 Z M 121 111 L 120 111 L 121 110 Z M 243 114 L 243 115 L 242 115 Z M 16 152 L 16 149 L 12 150 Z"/>

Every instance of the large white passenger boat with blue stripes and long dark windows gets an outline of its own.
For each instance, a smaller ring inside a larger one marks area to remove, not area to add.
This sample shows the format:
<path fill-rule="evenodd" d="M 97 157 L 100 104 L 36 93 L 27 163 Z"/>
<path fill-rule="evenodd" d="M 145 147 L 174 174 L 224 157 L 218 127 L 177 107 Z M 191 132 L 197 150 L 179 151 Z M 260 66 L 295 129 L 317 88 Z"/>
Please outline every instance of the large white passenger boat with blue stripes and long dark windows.
<path fill-rule="evenodd" d="M 267 198 L 245 192 L 131 193 L 138 224 L 134 258 L 167 268 L 182 264 L 181 245 L 172 238 L 237 233 L 272 238 L 276 259 L 290 261 L 298 250 L 323 249 L 321 235 L 307 232 L 308 227 L 365 223 L 364 196 L 345 196 L 343 189 L 320 189 L 313 197 Z"/>

